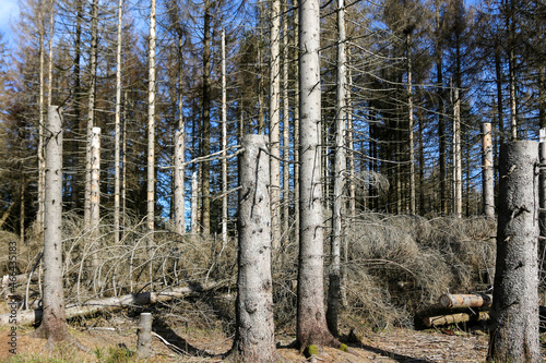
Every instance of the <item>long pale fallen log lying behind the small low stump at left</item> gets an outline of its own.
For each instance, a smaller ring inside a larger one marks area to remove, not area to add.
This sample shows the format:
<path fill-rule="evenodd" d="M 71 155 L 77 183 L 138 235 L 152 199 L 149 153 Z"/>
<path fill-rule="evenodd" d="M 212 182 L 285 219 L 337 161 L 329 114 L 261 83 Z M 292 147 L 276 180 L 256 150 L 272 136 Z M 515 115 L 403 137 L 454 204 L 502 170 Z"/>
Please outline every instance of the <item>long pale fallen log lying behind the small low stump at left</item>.
<path fill-rule="evenodd" d="M 193 292 L 201 292 L 218 287 L 218 282 L 197 283 L 187 287 L 175 288 L 173 290 L 157 292 L 141 292 L 138 294 L 127 294 L 121 297 L 90 300 L 82 304 L 68 305 L 66 308 L 67 318 L 92 315 L 98 312 L 108 312 L 130 306 L 151 305 L 162 301 L 169 301 L 175 298 L 183 298 Z M 8 304 L 10 306 L 10 304 Z M 11 307 L 11 306 L 10 306 Z M 41 320 L 41 308 L 16 311 L 0 314 L 0 326 L 2 325 L 29 325 Z"/>

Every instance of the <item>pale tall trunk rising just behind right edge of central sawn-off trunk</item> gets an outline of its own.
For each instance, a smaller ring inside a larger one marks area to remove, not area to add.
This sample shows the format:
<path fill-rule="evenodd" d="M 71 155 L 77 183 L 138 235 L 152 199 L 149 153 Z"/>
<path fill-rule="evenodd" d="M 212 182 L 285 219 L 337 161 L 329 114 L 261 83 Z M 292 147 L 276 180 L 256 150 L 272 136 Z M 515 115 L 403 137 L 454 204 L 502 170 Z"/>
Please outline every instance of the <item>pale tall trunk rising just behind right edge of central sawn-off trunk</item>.
<path fill-rule="evenodd" d="M 271 238 L 273 254 L 281 246 L 281 0 L 271 2 L 271 61 L 270 61 L 270 191 L 271 191 Z"/>

